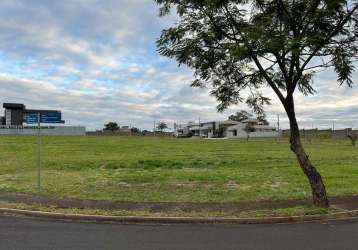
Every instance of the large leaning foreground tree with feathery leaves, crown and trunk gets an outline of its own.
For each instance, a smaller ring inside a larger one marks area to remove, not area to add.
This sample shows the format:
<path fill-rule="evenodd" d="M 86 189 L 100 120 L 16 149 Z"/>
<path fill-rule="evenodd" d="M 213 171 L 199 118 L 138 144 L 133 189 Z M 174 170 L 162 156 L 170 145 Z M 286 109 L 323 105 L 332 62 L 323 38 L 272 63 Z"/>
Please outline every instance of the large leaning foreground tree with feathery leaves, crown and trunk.
<path fill-rule="evenodd" d="M 316 70 L 330 67 L 340 85 L 352 86 L 353 60 L 358 51 L 358 3 L 155 1 L 161 16 L 173 7 L 178 14 L 176 24 L 164 29 L 157 41 L 159 53 L 194 69 L 192 86 L 211 85 L 211 94 L 220 103 L 218 111 L 246 102 L 260 113 L 270 103 L 263 87 L 276 94 L 289 118 L 290 148 L 309 180 L 313 202 L 328 207 L 322 177 L 301 143 L 294 93 L 314 94 Z"/>

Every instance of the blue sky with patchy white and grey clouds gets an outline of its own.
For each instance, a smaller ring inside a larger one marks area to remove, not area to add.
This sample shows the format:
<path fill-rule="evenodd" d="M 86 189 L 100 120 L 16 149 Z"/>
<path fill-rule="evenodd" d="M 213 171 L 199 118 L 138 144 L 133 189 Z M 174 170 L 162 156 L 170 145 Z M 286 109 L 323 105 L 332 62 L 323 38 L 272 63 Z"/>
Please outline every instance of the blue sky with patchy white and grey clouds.
<path fill-rule="evenodd" d="M 220 120 L 193 72 L 161 57 L 155 41 L 173 16 L 159 18 L 152 0 L 1 0 L 0 102 L 62 110 L 67 125 L 101 129 L 110 121 L 152 129 L 154 121 Z M 358 72 L 353 75 L 358 82 Z M 296 95 L 303 128 L 358 128 L 358 85 L 340 87 L 332 70 L 315 78 L 315 96 Z M 268 120 L 288 127 L 272 97 Z"/>

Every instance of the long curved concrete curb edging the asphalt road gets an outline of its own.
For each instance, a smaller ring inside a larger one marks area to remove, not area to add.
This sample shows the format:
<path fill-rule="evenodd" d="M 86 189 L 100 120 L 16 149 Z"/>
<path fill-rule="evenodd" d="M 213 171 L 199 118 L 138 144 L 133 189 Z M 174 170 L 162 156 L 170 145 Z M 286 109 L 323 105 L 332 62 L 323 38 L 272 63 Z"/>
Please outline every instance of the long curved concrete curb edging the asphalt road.
<path fill-rule="evenodd" d="M 220 217 L 138 217 L 138 216 L 103 216 L 62 214 L 41 211 L 30 211 L 11 208 L 0 208 L 0 214 L 12 216 L 26 216 L 44 219 L 70 220 L 81 222 L 102 222 L 120 224 L 277 224 L 303 223 L 313 221 L 332 221 L 358 219 L 358 210 L 324 215 L 305 215 L 290 217 L 265 218 L 220 218 Z"/>

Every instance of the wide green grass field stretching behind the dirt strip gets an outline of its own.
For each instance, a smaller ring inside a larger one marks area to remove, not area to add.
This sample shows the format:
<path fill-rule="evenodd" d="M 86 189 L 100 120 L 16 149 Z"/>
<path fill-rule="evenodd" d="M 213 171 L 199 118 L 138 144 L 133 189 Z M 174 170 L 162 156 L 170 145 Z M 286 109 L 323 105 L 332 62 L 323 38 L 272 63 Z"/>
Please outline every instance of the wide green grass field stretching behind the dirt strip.
<path fill-rule="evenodd" d="M 36 137 L 0 137 L 0 191 L 36 193 Z M 358 148 L 306 144 L 330 196 L 358 194 Z M 43 195 L 236 202 L 310 197 L 287 141 L 43 137 Z"/>

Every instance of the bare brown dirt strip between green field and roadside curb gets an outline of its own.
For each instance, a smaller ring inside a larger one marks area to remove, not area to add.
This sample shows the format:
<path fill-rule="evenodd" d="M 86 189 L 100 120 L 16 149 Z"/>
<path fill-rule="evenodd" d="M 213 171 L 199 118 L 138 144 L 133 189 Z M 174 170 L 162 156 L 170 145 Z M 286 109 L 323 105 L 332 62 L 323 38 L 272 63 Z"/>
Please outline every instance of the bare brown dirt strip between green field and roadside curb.
<path fill-rule="evenodd" d="M 105 210 L 137 210 L 151 212 L 165 211 L 223 211 L 235 212 L 260 209 L 280 209 L 295 206 L 311 205 L 311 200 L 278 200 L 253 202 L 126 202 L 104 200 L 81 200 L 74 198 L 50 198 L 22 193 L 0 192 L 0 200 L 7 202 L 24 203 L 28 205 L 41 204 L 59 208 L 87 208 Z M 343 209 L 358 209 L 358 196 L 331 197 L 331 204 Z"/>

